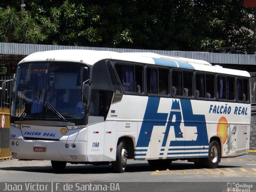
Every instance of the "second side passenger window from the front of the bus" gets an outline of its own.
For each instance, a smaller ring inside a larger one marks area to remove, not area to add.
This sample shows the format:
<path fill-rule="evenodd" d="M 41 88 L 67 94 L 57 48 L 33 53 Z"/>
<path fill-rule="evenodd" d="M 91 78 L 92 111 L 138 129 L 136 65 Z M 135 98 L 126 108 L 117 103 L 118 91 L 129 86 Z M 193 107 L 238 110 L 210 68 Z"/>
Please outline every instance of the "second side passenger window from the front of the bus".
<path fill-rule="evenodd" d="M 147 68 L 147 93 L 169 94 L 169 70 L 162 68 Z"/>

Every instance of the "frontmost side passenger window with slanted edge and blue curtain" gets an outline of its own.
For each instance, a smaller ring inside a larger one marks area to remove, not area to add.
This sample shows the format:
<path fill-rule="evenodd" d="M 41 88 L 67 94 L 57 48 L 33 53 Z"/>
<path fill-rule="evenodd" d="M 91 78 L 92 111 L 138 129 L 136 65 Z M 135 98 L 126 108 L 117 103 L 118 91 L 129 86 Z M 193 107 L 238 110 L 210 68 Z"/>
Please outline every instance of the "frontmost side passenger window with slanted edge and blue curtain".
<path fill-rule="evenodd" d="M 125 92 L 143 92 L 143 67 L 115 64 L 115 69 Z"/>

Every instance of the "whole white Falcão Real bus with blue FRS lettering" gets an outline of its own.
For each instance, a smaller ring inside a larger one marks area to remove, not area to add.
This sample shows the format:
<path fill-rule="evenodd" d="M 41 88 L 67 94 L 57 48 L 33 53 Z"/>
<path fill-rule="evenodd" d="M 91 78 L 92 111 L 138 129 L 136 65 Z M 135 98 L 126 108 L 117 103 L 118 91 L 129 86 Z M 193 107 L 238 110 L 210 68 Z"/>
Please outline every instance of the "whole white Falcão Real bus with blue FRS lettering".
<path fill-rule="evenodd" d="M 37 52 L 17 66 L 10 153 L 56 170 L 124 172 L 128 158 L 216 168 L 248 152 L 249 82 L 245 71 L 154 53 Z"/>

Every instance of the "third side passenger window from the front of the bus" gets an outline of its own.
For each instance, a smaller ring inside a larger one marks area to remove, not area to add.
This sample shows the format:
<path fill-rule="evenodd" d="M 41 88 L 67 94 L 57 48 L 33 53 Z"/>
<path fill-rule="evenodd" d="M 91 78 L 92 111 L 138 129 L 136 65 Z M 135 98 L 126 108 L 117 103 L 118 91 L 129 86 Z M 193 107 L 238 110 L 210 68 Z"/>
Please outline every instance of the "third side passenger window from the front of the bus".
<path fill-rule="evenodd" d="M 193 74 L 187 71 L 172 71 L 172 95 L 193 96 Z"/>

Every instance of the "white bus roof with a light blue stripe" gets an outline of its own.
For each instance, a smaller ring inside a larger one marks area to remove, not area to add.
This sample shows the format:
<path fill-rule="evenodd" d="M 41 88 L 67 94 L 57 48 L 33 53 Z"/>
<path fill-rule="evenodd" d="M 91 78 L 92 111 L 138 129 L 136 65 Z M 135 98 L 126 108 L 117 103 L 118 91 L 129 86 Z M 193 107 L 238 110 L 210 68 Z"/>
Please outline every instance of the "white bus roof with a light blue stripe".
<path fill-rule="evenodd" d="M 25 57 L 19 62 L 36 62 L 36 61 L 68 61 L 81 62 L 93 65 L 104 59 L 121 60 L 128 62 L 138 62 L 145 64 L 156 64 L 159 66 L 184 68 L 190 70 L 216 72 L 221 74 L 230 74 L 235 76 L 250 77 L 246 71 L 222 68 L 220 66 L 212 66 L 212 64 L 204 60 L 195 60 L 189 58 L 164 56 L 150 52 L 111 52 L 96 50 L 51 50 L 44 52 L 36 52 Z"/>

